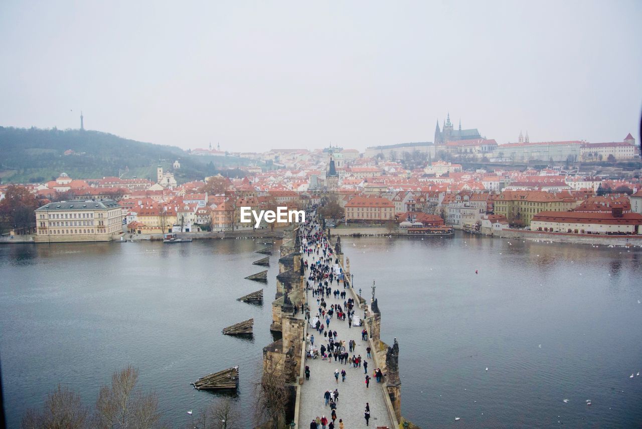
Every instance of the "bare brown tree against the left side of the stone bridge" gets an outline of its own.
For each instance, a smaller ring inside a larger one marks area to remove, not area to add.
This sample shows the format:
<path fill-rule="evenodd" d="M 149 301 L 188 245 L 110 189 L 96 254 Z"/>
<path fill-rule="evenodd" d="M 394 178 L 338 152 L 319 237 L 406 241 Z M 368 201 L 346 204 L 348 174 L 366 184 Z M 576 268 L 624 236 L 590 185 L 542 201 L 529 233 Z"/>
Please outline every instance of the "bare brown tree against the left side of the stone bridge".
<path fill-rule="evenodd" d="M 256 384 L 256 419 L 257 423 L 268 423 L 273 429 L 286 425 L 286 410 L 288 406 L 288 387 L 282 374 L 282 360 L 268 368 L 263 368 L 261 382 Z"/>

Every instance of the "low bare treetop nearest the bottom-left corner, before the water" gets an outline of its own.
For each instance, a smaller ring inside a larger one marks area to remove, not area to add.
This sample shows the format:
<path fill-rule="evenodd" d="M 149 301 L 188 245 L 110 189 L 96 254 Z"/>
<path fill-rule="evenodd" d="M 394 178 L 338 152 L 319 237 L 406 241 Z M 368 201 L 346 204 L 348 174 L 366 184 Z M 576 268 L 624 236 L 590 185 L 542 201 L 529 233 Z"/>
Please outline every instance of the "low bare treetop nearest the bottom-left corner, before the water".
<path fill-rule="evenodd" d="M 89 428 L 89 410 L 82 405 L 80 395 L 67 387 L 47 395 L 44 409 L 30 409 L 22 418 L 22 429 L 85 429 Z"/>

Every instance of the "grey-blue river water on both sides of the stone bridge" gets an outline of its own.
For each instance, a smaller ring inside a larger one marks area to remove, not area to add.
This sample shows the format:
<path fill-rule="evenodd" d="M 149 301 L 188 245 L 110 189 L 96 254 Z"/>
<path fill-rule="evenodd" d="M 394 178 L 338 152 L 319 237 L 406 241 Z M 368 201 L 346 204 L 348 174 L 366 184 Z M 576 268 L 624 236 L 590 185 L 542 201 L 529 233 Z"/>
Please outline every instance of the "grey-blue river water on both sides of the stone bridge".
<path fill-rule="evenodd" d="M 58 383 L 92 405 L 98 387 L 127 364 L 139 368 L 141 386 L 156 391 L 174 427 L 216 400 L 189 382 L 239 365 L 234 401 L 252 427 L 252 390 L 272 341 L 276 251 L 266 304 L 236 298 L 263 286 L 243 277 L 262 269 L 252 261 L 265 241 L 0 247 L 9 427 Z M 345 238 L 343 250 L 363 295 L 376 280 L 381 337 L 399 340 L 403 414 L 418 425 L 642 425 L 642 376 L 629 378 L 642 371 L 639 248 L 458 232 Z M 252 317 L 251 341 L 221 335 Z"/>

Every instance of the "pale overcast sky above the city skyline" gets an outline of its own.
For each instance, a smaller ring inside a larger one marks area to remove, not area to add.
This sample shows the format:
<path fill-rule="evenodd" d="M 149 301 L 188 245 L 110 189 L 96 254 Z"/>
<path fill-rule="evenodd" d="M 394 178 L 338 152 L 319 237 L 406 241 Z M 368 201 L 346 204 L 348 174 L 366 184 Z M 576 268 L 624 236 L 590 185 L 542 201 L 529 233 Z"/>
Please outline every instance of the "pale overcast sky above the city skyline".
<path fill-rule="evenodd" d="M 639 142 L 642 2 L 0 2 L 0 125 L 183 149 Z"/>

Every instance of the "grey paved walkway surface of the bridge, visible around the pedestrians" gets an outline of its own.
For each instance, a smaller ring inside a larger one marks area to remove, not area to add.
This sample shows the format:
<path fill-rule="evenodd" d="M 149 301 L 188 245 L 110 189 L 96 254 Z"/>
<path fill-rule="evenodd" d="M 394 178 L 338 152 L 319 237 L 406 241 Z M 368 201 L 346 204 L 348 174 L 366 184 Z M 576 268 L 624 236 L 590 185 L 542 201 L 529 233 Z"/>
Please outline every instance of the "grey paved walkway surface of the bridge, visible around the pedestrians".
<path fill-rule="evenodd" d="M 315 231 L 318 231 L 316 229 Z M 325 240 L 324 236 L 324 240 Z M 305 255 L 304 260 L 308 261 L 308 265 L 315 263 L 318 259 L 316 254 Z M 345 272 L 345 270 L 343 270 Z M 309 269 L 306 270 L 306 279 L 309 276 Z M 359 305 L 360 300 L 354 290 L 351 287 L 346 287 L 347 285 L 344 282 L 340 282 L 337 286 L 336 282 L 333 283 L 333 291 L 339 289 L 339 291 L 346 291 L 347 298 L 353 298 L 355 302 L 355 311 L 356 316 L 359 316 L 362 320 L 366 320 L 364 317 L 364 310 L 361 309 Z M 308 292 L 308 303 L 310 314 L 312 318 L 319 314 L 317 298 L 320 296 L 312 296 L 311 291 Z M 327 302 L 327 309 L 330 308 L 331 304 L 340 304 L 343 305 L 344 300 L 342 298 L 335 299 L 333 294 L 330 294 L 329 297 L 324 297 L 325 302 Z M 372 316 L 370 311 L 368 316 Z M 325 320 L 322 321 L 325 325 Z M 361 367 L 354 368 L 352 364 L 341 364 L 339 360 L 334 360 L 334 358 L 328 358 L 323 360 L 322 357 L 317 357 L 317 359 L 307 358 L 304 360 L 302 366 L 309 366 L 310 369 L 310 379 L 304 380 L 303 384 L 300 385 L 300 398 L 299 398 L 299 428 L 309 428 L 311 421 L 315 420 L 317 417 L 325 416 L 328 422 L 331 422 L 331 409 L 329 405 L 325 405 L 324 393 L 325 391 L 334 391 L 338 390 L 339 396 L 338 401 L 336 401 L 336 421 L 334 421 L 334 427 L 339 428 L 339 420 L 343 420 L 343 425 L 346 429 L 358 429 L 366 427 L 377 426 L 388 426 L 389 428 L 394 428 L 396 424 L 396 419 L 393 422 L 394 416 L 390 416 L 392 405 L 390 399 L 386 398 L 387 394 L 385 393 L 384 382 L 376 382 L 374 377 L 374 370 L 379 368 L 377 366 L 376 360 L 374 357 L 374 344 L 369 340 L 361 339 L 361 330 L 363 326 L 352 326 L 349 327 L 348 320 L 340 321 L 334 317 L 330 319 L 329 329 L 337 333 L 338 341 L 345 341 L 347 344 L 348 341 L 354 340 L 356 342 L 356 350 L 349 353 L 349 356 L 352 355 L 358 356 L 361 355 L 363 362 L 368 363 L 367 373 L 370 376 L 370 387 L 366 387 L 365 384 L 365 371 L 363 364 Z M 319 334 L 315 328 L 311 327 L 309 323 L 306 323 L 306 332 L 309 336 L 314 335 L 314 344 L 318 348 L 322 344 L 325 344 L 327 347 L 327 338 L 324 339 L 323 334 Z M 370 334 L 370 332 L 369 332 Z M 306 350 L 309 349 L 310 341 L 306 341 Z M 373 348 L 371 356 L 367 357 L 366 348 L 370 346 Z M 349 348 L 346 345 L 346 351 L 349 352 Z M 347 375 L 345 376 L 345 382 L 342 382 L 342 377 L 339 375 L 338 382 L 334 378 L 334 371 L 338 369 L 339 372 L 342 369 L 345 369 Z M 382 368 L 383 369 L 383 368 Z M 387 399 L 387 401 L 386 401 Z M 364 418 L 364 412 L 366 403 L 370 407 L 370 421 L 369 426 L 366 426 L 366 421 Z"/>

